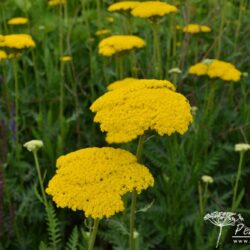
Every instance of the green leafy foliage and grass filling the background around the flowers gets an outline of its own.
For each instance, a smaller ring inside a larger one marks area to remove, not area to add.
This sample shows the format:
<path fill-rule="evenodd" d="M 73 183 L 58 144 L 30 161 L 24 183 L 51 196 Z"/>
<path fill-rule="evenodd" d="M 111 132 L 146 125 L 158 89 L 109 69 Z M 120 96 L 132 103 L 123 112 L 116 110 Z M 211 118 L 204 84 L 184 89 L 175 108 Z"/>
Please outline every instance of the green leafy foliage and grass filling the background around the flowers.
<path fill-rule="evenodd" d="M 51 201 L 48 208 L 44 208 L 32 155 L 21 148 L 30 139 L 43 140 L 39 160 L 46 187 L 55 174 L 56 159 L 60 155 L 78 148 L 107 145 L 100 126 L 93 123 L 89 106 L 119 76 L 115 60 L 98 54 L 98 43 L 103 37 L 96 36 L 96 31 L 109 28 L 113 34 L 122 34 L 131 28 L 133 34 L 146 40 L 147 46 L 134 53 L 136 64 L 130 56 L 124 59 L 124 76 L 152 78 L 155 75 L 150 22 L 139 18 L 128 20 L 124 15 L 107 12 L 109 4 L 116 1 L 67 2 L 67 9 L 62 8 L 60 16 L 60 8 L 49 8 L 47 1 L 0 1 L 0 33 L 29 33 L 36 42 L 35 49 L 22 51 L 18 59 L 19 145 L 15 141 L 16 93 L 12 63 L 0 61 L 0 122 L 7 131 L 3 133 L 0 127 L 0 173 L 3 173 L 0 183 L 4 192 L 4 197 L 0 197 L 3 204 L 0 214 L 4 215 L 3 222 L 0 221 L 0 250 L 87 249 L 91 227 L 84 225 L 84 214 L 56 209 Z M 221 39 L 220 59 L 234 63 L 242 72 L 249 72 L 250 6 L 248 0 L 165 2 L 179 3 L 179 12 L 160 21 L 164 79 L 174 82 L 177 91 L 198 110 L 184 135 L 160 137 L 152 131 L 146 133 L 142 159 L 155 177 L 155 186 L 138 196 L 136 250 L 210 250 L 214 249 L 218 228 L 203 222 L 198 186 L 201 185 L 204 192 L 202 175 L 213 177 L 214 183 L 208 185 L 204 213 L 231 211 L 239 161 L 233 147 L 239 142 L 250 142 L 250 77 L 246 75 L 238 83 L 226 83 L 205 76 L 190 76 L 188 68 L 205 58 L 215 58 Z M 225 22 L 221 30 L 223 12 Z M 8 19 L 16 16 L 28 17 L 29 25 L 8 26 Z M 114 18 L 113 23 L 107 20 L 110 16 Z M 208 24 L 212 32 L 188 36 L 176 29 L 176 25 L 187 22 Z M 72 62 L 62 67 L 62 55 L 72 55 Z M 176 67 L 182 74 L 168 73 Z M 206 110 L 213 84 L 216 84 L 214 99 Z M 135 153 L 136 145 L 135 140 L 119 147 Z M 20 148 L 19 155 L 16 148 Z M 250 225 L 249 159 L 247 153 L 236 211 L 242 213 Z M 123 213 L 101 221 L 96 250 L 128 249 L 129 194 L 124 202 Z M 235 249 L 230 240 L 228 234 L 221 249 Z M 248 248 L 237 246 L 241 250 Z"/>

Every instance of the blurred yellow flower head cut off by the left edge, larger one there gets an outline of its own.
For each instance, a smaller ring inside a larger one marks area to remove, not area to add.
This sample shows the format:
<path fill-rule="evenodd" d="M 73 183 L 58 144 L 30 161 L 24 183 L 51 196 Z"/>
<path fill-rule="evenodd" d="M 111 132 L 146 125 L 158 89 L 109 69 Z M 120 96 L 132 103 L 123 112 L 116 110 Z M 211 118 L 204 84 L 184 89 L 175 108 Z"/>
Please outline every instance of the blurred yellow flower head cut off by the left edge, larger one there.
<path fill-rule="evenodd" d="M 7 47 L 12 49 L 34 48 L 36 46 L 32 37 L 27 34 L 12 34 L 0 38 L 0 47 Z"/>

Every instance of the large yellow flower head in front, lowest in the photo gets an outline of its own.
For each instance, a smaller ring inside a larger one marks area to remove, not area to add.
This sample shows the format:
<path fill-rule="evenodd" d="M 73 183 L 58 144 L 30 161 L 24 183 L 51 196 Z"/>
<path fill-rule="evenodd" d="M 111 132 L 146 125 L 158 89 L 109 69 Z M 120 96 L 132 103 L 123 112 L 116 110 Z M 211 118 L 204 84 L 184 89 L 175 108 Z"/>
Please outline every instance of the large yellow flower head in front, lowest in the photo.
<path fill-rule="evenodd" d="M 59 207 L 103 218 L 124 210 L 122 196 L 153 186 L 149 170 L 131 153 L 110 147 L 81 149 L 57 159 L 46 192 Z"/>

